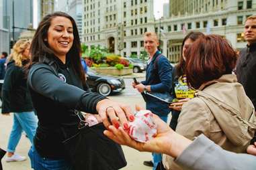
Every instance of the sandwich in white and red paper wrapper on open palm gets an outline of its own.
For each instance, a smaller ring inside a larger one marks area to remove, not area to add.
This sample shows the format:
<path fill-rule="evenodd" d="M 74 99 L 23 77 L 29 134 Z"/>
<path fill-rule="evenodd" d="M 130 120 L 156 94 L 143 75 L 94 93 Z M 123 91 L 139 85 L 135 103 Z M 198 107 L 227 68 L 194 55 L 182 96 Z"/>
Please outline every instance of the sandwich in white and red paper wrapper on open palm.
<path fill-rule="evenodd" d="M 128 134 L 140 143 L 146 143 L 157 135 L 157 124 L 153 121 L 150 110 L 140 110 L 135 115 L 134 121 L 129 122 Z"/>

